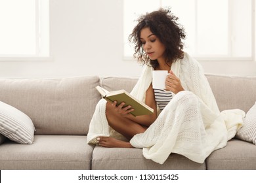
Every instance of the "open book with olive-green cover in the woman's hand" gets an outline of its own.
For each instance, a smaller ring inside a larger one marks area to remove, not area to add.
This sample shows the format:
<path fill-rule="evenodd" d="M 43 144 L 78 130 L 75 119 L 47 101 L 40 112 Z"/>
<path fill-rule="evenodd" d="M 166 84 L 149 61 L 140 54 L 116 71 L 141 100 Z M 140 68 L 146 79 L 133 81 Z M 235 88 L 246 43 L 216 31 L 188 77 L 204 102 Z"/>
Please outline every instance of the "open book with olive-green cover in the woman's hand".
<path fill-rule="evenodd" d="M 134 110 L 130 112 L 131 114 L 133 114 L 133 116 L 140 116 L 140 115 L 154 113 L 153 108 L 135 99 L 135 97 L 133 97 L 130 93 L 126 92 L 125 90 L 108 92 L 108 90 L 105 90 L 100 86 L 96 86 L 96 89 L 102 95 L 102 97 L 106 99 L 106 101 L 110 101 L 111 103 L 113 103 L 114 101 L 117 101 L 117 105 L 124 102 L 125 103 L 124 107 L 131 105 L 131 107 L 134 108 Z"/>

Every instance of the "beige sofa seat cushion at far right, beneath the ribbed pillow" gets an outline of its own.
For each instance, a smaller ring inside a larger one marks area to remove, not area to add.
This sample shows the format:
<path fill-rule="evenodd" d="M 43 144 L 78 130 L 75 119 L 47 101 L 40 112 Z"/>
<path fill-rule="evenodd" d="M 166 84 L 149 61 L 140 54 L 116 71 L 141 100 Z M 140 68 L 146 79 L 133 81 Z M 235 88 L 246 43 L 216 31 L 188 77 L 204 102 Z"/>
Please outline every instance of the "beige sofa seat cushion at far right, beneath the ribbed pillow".
<path fill-rule="evenodd" d="M 215 150 L 206 159 L 209 170 L 255 170 L 256 148 L 249 142 L 232 139 L 224 148 Z"/>

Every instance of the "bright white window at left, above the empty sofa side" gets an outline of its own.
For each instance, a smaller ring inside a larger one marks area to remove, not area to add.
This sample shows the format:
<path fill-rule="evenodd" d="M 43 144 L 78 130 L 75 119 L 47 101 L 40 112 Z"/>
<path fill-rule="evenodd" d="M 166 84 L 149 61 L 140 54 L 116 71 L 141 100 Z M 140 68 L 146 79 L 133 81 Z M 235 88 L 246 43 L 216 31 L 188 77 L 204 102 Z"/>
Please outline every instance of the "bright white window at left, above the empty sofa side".
<path fill-rule="evenodd" d="M 0 25 L 0 57 L 49 56 L 49 0 L 1 0 Z"/>

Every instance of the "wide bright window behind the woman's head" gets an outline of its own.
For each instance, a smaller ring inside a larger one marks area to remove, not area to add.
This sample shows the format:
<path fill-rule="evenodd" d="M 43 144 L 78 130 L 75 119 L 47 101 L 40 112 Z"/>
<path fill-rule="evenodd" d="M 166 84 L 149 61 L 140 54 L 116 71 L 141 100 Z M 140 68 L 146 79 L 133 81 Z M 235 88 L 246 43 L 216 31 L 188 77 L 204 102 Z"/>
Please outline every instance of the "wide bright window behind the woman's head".
<path fill-rule="evenodd" d="M 184 51 L 198 59 L 254 58 L 254 0 L 124 0 L 124 57 L 133 57 L 129 34 L 140 14 L 171 7 L 184 26 Z"/>

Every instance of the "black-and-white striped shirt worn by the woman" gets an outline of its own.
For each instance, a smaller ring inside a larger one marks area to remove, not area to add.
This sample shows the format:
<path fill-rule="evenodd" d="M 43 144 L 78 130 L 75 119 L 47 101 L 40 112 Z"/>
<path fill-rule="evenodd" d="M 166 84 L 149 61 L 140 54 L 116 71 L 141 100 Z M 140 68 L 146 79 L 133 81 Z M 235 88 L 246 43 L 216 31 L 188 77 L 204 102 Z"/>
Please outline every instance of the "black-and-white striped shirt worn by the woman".
<path fill-rule="evenodd" d="M 160 111 L 173 99 L 173 93 L 171 91 L 165 91 L 160 89 L 154 89 L 156 104 L 160 108 Z"/>

